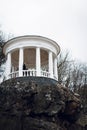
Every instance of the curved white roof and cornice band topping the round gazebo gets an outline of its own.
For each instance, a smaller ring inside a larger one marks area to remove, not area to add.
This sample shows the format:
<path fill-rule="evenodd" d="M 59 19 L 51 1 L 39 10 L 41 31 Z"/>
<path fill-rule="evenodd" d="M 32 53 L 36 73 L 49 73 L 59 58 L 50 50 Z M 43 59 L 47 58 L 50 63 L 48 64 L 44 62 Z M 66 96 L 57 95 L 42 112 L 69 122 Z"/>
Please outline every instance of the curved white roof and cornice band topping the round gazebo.
<path fill-rule="evenodd" d="M 32 47 L 41 46 L 42 48 L 51 49 L 51 51 L 53 51 L 54 53 L 56 51 L 56 55 L 58 55 L 60 52 L 60 47 L 55 41 L 38 35 L 25 35 L 15 37 L 6 42 L 3 48 L 3 52 L 4 54 L 7 54 L 9 51 L 13 49 L 28 46 Z"/>

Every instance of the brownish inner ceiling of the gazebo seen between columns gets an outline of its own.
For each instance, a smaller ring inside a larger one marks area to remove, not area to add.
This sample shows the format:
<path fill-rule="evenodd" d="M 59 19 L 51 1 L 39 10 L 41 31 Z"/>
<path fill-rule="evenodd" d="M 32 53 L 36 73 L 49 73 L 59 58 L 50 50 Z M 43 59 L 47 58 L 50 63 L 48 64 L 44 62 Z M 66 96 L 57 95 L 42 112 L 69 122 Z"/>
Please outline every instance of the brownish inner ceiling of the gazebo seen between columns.
<path fill-rule="evenodd" d="M 48 63 L 48 52 L 41 49 L 41 65 Z M 19 61 L 19 50 L 15 50 L 12 53 L 12 64 L 18 66 Z M 24 63 L 27 67 L 35 67 L 36 64 L 36 50 L 35 48 L 25 48 L 24 49 Z"/>

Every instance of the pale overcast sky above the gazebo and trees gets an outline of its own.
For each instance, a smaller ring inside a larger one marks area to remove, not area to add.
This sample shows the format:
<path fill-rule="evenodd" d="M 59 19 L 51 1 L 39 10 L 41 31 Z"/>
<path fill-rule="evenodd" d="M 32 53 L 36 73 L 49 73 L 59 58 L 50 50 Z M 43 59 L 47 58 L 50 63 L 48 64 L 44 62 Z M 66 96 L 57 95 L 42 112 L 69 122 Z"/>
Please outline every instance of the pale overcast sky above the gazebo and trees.
<path fill-rule="evenodd" d="M 87 62 L 87 0 L 0 0 L 0 24 L 7 34 L 51 38 Z"/>

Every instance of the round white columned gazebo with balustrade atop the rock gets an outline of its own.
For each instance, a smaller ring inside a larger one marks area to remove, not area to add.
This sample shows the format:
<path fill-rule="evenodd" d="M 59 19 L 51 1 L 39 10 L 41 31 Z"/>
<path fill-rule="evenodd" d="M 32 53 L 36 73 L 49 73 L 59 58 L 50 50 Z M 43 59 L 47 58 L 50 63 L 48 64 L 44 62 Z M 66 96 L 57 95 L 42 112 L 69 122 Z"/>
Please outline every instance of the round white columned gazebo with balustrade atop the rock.
<path fill-rule="evenodd" d="M 6 55 L 5 78 L 25 76 L 58 80 L 59 45 L 42 36 L 20 36 L 9 40 L 3 48 Z"/>

